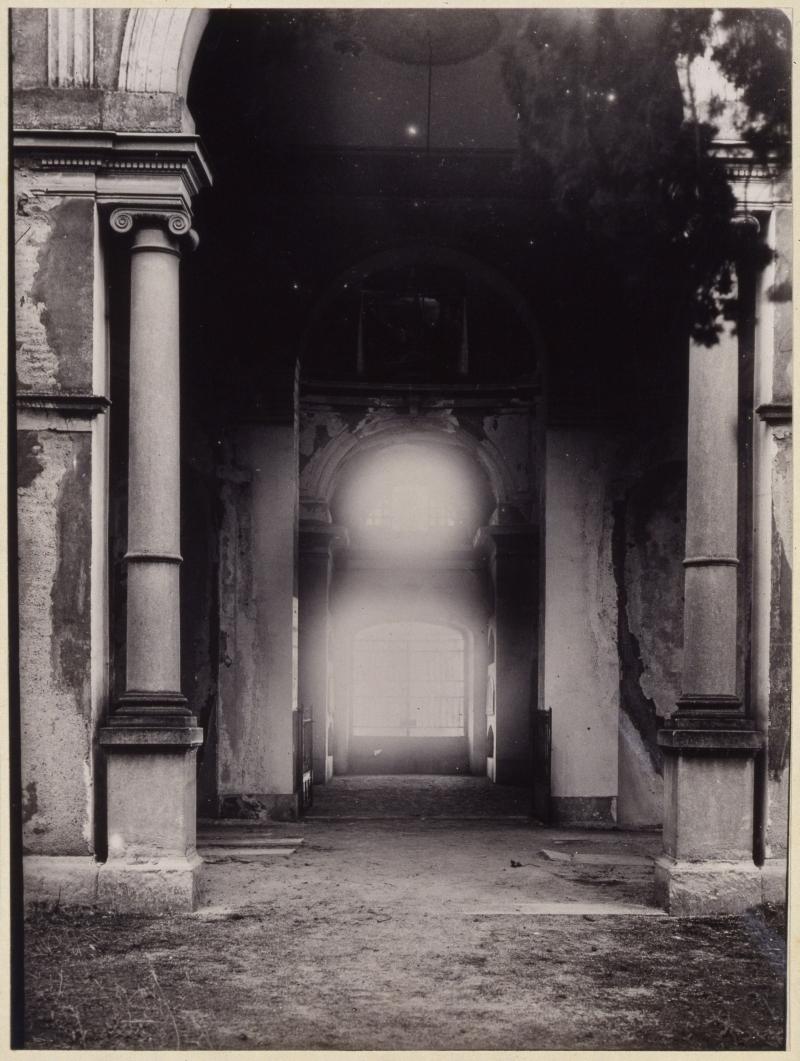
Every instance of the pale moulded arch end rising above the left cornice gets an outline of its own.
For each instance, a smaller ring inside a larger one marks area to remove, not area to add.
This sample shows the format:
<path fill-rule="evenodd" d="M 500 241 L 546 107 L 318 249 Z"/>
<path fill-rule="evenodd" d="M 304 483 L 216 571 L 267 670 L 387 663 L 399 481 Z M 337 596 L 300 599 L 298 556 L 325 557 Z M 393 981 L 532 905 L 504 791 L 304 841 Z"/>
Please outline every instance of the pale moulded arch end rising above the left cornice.
<path fill-rule="evenodd" d="M 122 40 L 119 89 L 186 99 L 209 14 L 201 7 L 133 7 Z"/>

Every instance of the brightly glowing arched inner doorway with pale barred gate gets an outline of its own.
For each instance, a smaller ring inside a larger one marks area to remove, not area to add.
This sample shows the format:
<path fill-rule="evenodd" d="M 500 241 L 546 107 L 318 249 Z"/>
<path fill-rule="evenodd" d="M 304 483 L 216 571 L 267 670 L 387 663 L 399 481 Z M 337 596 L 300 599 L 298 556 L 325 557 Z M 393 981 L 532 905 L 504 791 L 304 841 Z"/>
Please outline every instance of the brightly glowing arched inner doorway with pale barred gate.
<path fill-rule="evenodd" d="M 347 538 L 331 579 L 333 771 L 484 776 L 487 476 L 466 447 L 397 420 L 333 485 Z"/>

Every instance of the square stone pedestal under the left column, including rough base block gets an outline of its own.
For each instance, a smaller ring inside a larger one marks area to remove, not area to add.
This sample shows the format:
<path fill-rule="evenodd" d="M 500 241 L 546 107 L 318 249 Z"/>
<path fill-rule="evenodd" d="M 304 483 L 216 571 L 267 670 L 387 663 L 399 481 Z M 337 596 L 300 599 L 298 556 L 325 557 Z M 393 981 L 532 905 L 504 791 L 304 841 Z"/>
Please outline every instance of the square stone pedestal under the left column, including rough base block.
<path fill-rule="evenodd" d="M 98 874 L 98 903 L 126 914 L 193 910 L 199 899 L 195 849 L 196 727 L 108 726 L 108 859 Z"/>

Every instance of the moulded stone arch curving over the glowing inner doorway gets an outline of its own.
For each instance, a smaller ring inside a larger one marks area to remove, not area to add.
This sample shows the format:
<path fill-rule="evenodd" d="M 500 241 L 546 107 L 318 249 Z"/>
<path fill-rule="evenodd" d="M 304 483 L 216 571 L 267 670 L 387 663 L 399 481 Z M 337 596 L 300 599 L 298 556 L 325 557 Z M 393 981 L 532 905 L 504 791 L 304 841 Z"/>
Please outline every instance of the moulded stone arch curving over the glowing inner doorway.
<path fill-rule="evenodd" d="M 487 438 L 479 440 L 458 425 L 452 413 L 407 416 L 381 412 L 366 417 L 352 432 L 342 431 L 311 457 L 300 475 L 302 504 L 330 506 L 347 465 L 370 450 L 397 442 L 451 446 L 477 462 L 486 475 L 495 504 L 514 504 L 517 491 L 511 470 L 498 448 Z"/>

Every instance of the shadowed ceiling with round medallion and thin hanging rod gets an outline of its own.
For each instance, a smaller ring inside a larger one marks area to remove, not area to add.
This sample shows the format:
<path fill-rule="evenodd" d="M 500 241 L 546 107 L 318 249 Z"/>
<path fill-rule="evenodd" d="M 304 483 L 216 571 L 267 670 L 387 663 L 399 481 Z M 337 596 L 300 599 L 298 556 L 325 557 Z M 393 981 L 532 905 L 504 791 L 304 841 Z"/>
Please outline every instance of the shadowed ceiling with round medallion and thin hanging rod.
<path fill-rule="evenodd" d="M 226 15 L 209 27 L 206 58 L 223 53 L 226 77 L 238 71 L 241 105 L 273 147 L 516 146 L 501 75 L 515 12 Z"/>

